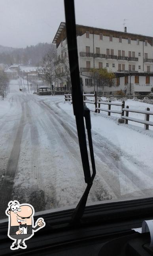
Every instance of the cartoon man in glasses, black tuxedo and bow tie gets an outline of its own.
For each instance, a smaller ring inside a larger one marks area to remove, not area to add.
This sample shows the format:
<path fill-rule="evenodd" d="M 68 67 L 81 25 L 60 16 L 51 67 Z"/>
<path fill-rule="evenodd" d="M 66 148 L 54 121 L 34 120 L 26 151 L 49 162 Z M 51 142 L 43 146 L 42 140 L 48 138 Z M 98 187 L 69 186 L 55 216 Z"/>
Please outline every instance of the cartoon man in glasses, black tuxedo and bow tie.
<path fill-rule="evenodd" d="M 43 218 L 37 219 L 36 225 L 33 227 L 34 208 L 30 204 L 19 204 L 16 200 L 10 201 L 6 215 L 9 217 L 8 237 L 15 241 L 10 247 L 11 250 L 25 249 L 25 240 L 30 239 L 34 232 L 45 227 Z M 20 243 L 18 244 L 19 240 Z"/>

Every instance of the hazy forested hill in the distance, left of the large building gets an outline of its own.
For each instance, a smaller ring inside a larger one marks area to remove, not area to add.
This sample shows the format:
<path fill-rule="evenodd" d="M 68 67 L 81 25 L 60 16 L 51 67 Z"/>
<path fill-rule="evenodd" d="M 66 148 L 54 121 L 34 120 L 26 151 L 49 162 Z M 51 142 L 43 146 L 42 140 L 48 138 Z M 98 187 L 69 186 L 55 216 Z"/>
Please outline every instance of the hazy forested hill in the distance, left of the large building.
<path fill-rule="evenodd" d="M 0 46 L 0 63 L 37 66 L 45 54 L 55 48 L 54 44 L 39 43 L 26 48 Z"/>

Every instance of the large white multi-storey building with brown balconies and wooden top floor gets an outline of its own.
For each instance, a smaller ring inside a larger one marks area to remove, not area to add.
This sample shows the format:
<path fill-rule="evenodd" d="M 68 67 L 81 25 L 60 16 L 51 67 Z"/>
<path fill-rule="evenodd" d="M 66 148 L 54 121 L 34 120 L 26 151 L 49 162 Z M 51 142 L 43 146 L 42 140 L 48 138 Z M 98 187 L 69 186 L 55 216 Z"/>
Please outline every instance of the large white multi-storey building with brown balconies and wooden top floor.
<path fill-rule="evenodd" d="M 125 28 L 126 31 L 126 28 Z M 150 92 L 153 87 L 153 37 L 76 25 L 80 76 L 83 90 L 95 88 L 90 68 L 104 68 L 115 73 L 116 86 L 104 88 L 105 93 L 127 90 L 127 93 Z M 59 60 L 68 58 L 65 23 L 61 22 L 53 39 Z M 59 82 L 58 86 L 65 85 Z M 100 90 L 100 88 L 99 88 Z"/>

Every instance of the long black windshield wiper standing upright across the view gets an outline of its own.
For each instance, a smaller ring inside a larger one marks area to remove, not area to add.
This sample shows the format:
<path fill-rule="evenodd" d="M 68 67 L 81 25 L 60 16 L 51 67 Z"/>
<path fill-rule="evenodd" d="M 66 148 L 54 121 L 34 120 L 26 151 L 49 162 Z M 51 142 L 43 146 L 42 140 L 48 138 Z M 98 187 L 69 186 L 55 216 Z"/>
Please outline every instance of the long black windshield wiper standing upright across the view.
<path fill-rule="evenodd" d="M 91 136 L 90 110 L 83 105 L 83 90 L 80 84 L 80 77 L 79 77 L 74 0 L 64 0 L 64 5 L 65 5 L 65 17 L 66 17 L 66 34 L 67 34 L 67 42 L 68 42 L 68 56 L 69 56 L 69 64 L 70 64 L 70 76 L 71 76 L 71 83 L 72 83 L 73 110 L 74 110 L 74 115 L 76 116 L 77 134 L 79 139 L 79 147 L 81 152 L 85 183 L 87 183 L 85 192 L 83 193 L 83 196 L 81 197 L 81 200 L 77 204 L 77 207 L 74 210 L 74 213 L 72 215 L 71 224 L 76 224 L 78 221 L 80 221 L 81 217 L 83 216 L 88 194 L 93 185 L 93 179 L 96 175 L 96 168 L 95 168 L 95 162 L 94 162 L 93 143 L 92 143 L 92 136 Z M 84 117 L 85 117 L 85 123 L 86 123 L 86 129 L 87 129 L 88 141 L 89 141 L 91 165 L 93 170 L 92 175 L 91 175 L 90 165 L 89 165 Z"/>

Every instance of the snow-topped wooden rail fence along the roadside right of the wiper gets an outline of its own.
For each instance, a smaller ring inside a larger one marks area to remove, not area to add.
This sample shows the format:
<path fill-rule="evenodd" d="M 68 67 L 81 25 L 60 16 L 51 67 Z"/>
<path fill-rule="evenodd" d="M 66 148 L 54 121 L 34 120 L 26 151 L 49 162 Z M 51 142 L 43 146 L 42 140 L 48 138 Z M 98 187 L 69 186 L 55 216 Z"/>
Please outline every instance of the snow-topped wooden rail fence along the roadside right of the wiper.
<path fill-rule="evenodd" d="M 94 97 L 94 100 L 87 100 L 86 97 Z M 65 94 L 65 101 L 70 101 L 70 100 L 72 100 L 72 94 Z M 153 126 L 153 122 L 149 121 L 149 116 L 153 115 L 153 111 L 150 111 L 150 108 L 146 108 L 146 110 L 132 109 L 132 108 L 129 108 L 129 106 L 125 107 L 125 101 L 111 102 L 111 100 L 110 100 L 109 102 L 106 102 L 106 101 L 99 100 L 97 102 L 96 91 L 94 92 L 94 94 L 83 94 L 83 103 L 84 103 L 84 105 L 86 105 L 86 103 L 94 104 L 95 110 L 91 110 L 91 111 L 96 112 L 96 113 L 97 112 L 100 113 L 100 111 L 104 111 L 104 112 L 108 112 L 109 116 L 111 115 L 111 113 L 120 114 L 121 118 L 125 120 L 125 124 L 128 124 L 128 121 L 142 123 L 142 124 L 144 124 L 145 130 L 149 130 L 149 125 Z M 97 107 L 97 105 L 98 105 L 98 107 Z M 108 108 L 102 108 L 101 105 L 108 105 Z M 121 106 L 121 110 L 113 110 L 113 109 L 111 109 L 111 106 Z M 145 114 L 145 118 L 144 118 L 144 120 L 142 120 L 142 119 L 138 119 L 135 117 L 129 117 L 128 116 L 129 112 Z"/>

